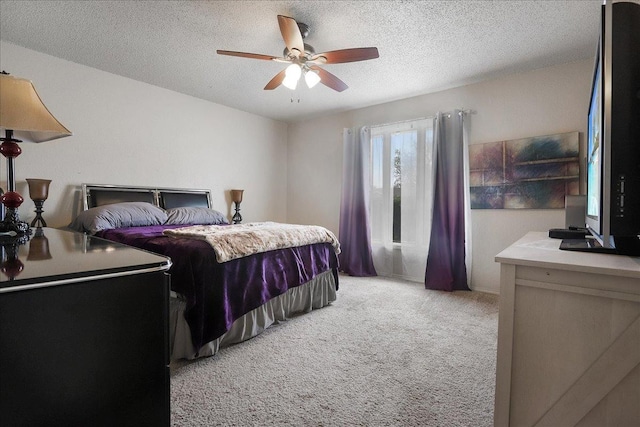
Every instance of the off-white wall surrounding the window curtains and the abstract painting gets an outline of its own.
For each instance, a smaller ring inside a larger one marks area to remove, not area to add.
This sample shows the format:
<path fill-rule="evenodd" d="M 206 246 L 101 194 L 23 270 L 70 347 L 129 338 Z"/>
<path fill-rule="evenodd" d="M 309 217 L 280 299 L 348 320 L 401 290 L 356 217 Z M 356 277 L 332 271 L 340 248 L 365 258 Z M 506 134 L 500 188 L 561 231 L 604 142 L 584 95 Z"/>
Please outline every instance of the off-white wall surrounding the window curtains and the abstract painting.
<path fill-rule="evenodd" d="M 465 108 L 474 112 L 471 144 L 571 131 L 580 131 L 583 141 L 592 65 L 580 61 L 291 125 L 288 221 L 338 232 L 344 127 Z M 564 210 L 473 210 L 471 287 L 497 293 L 495 255 L 527 231 L 563 226 Z"/>

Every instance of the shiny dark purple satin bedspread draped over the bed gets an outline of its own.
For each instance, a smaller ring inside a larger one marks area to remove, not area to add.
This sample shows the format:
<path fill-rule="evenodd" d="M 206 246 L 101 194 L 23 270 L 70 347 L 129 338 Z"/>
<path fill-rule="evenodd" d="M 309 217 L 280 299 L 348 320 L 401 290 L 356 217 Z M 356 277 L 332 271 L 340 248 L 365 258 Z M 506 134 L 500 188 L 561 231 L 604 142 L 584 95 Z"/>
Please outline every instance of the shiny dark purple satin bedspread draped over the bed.
<path fill-rule="evenodd" d="M 162 234 L 179 227 L 184 226 L 119 228 L 96 236 L 171 258 L 171 289 L 187 300 L 185 319 L 196 348 L 224 334 L 236 319 L 322 272 L 333 269 L 338 283 L 338 259 L 328 243 L 218 263 L 207 242 Z"/>

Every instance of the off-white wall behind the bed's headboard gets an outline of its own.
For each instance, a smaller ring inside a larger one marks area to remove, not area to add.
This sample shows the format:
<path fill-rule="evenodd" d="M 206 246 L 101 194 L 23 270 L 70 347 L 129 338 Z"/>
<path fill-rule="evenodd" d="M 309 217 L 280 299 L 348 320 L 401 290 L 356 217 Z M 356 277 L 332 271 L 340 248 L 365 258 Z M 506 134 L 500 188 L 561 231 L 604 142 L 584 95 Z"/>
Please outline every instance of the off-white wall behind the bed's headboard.
<path fill-rule="evenodd" d="M 52 179 L 49 226 L 67 225 L 82 183 L 212 190 L 231 215 L 228 190 L 243 188 L 245 221 L 286 220 L 287 125 L 0 42 L 0 68 L 33 81 L 73 136 L 21 144 L 21 219 L 34 205 L 25 178 Z M 0 161 L 0 184 L 6 167 Z"/>

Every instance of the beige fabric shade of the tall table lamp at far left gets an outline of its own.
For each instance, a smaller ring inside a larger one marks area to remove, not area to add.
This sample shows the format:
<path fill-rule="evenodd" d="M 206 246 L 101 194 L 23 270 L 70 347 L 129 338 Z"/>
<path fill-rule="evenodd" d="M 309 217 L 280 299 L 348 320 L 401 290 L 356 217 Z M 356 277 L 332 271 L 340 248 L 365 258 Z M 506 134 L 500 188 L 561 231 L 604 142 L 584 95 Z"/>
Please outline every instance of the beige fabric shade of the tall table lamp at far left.
<path fill-rule="evenodd" d="M 71 135 L 44 105 L 30 80 L 0 74 L 0 130 L 21 141 L 44 142 Z"/>

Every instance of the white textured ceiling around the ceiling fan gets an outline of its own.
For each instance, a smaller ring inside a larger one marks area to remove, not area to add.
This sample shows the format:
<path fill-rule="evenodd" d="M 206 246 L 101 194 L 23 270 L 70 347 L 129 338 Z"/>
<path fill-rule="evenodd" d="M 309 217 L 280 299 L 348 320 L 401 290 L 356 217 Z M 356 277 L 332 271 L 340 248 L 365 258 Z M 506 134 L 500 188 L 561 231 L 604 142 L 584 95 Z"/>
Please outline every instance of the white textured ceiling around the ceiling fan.
<path fill-rule="evenodd" d="M 0 1 L 0 39 L 286 122 L 590 58 L 601 0 Z M 316 52 L 376 46 L 325 69 L 348 86 L 263 87 L 284 65 L 277 15 Z M 1 52 L 0 52 L 1 54 Z M 10 72 L 10 70 L 7 70 Z M 28 76 L 24 76 L 28 77 Z"/>

